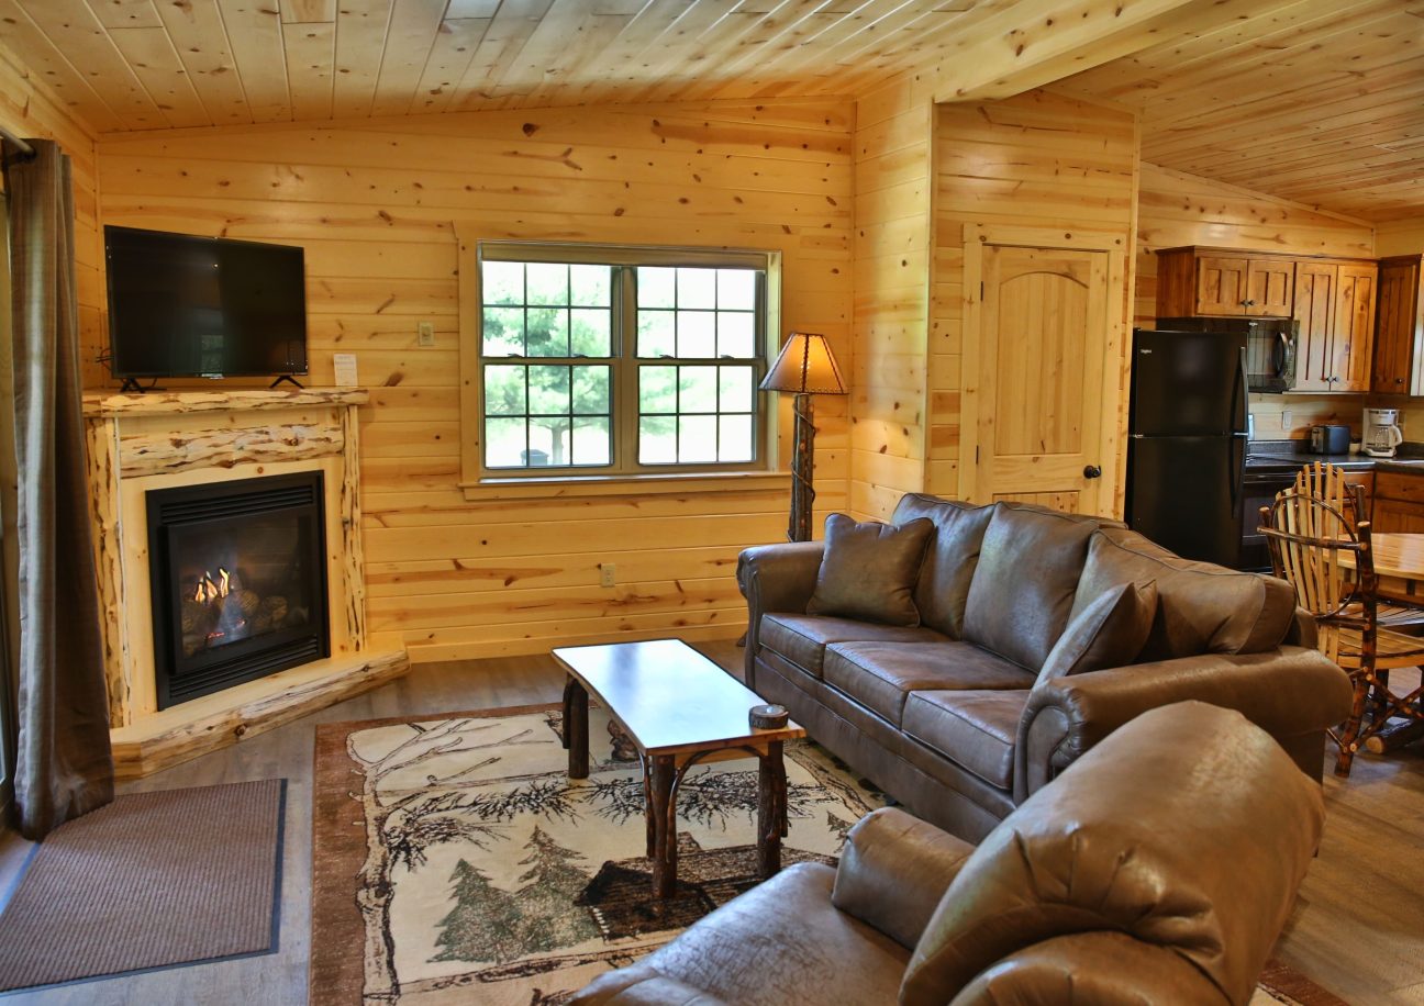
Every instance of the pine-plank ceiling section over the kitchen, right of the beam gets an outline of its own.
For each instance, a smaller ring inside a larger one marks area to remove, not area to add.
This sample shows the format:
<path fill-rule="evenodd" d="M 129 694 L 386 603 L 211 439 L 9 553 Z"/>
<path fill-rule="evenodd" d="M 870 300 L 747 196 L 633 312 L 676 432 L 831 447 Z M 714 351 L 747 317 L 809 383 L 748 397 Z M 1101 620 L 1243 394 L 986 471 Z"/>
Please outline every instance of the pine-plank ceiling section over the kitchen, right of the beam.
<path fill-rule="evenodd" d="M 1367 221 L 1424 215 L 1424 3 L 1302 0 L 1059 81 L 1142 159 Z"/>

